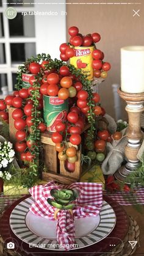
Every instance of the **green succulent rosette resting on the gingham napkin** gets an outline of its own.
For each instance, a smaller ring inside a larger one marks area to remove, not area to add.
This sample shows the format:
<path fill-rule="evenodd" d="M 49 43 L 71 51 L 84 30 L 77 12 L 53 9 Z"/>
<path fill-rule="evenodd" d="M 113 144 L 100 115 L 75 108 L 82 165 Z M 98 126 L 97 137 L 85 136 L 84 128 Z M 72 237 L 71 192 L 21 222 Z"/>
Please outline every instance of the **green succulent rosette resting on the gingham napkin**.
<path fill-rule="evenodd" d="M 79 191 L 77 191 L 77 189 L 51 189 L 50 194 L 54 200 L 48 198 L 47 201 L 49 205 L 58 209 L 70 210 L 75 206 L 74 203 L 71 202 L 77 199 Z"/>

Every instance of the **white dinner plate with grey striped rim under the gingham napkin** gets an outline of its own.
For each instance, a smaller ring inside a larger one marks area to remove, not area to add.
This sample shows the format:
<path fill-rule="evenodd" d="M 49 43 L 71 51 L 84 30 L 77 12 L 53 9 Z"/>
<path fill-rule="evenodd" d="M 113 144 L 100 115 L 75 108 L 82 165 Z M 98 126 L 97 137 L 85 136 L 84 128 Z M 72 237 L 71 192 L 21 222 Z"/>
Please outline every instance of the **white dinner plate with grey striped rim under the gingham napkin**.
<path fill-rule="evenodd" d="M 49 250 L 47 245 L 57 244 L 56 221 L 31 213 L 29 207 L 32 203 L 34 203 L 34 199 L 28 197 L 16 205 L 10 214 L 10 227 L 13 233 L 25 243 L 35 244 Z M 109 203 L 103 201 L 98 216 L 74 219 L 74 222 L 76 227 L 76 249 L 81 249 L 106 238 L 115 227 L 116 216 Z M 59 246 L 54 246 L 54 249 L 50 246 L 50 249 L 58 251 Z"/>

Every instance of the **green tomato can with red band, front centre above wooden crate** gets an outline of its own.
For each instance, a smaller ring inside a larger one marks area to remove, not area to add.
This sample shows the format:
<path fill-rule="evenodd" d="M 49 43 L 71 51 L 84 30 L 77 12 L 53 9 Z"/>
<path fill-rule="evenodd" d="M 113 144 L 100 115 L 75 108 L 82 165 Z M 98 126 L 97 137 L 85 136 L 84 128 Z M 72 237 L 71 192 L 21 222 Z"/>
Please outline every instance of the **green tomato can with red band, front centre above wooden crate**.
<path fill-rule="evenodd" d="M 67 120 L 68 100 L 43 95 L 43 117 L 48 131 L 56 131 L 59 121 Z"/>

